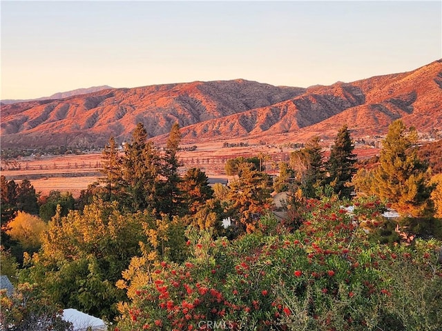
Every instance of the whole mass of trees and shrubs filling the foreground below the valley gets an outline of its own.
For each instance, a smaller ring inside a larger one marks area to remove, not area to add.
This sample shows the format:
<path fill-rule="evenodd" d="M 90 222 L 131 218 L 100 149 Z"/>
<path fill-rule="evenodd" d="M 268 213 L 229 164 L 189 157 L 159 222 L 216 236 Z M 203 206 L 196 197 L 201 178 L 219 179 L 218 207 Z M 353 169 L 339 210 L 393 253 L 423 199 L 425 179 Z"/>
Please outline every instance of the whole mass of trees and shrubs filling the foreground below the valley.
<path fill-rule="evenodd" d="M 111 138 L 77 200 L 1 178 L 1 274 L 18 285 L 1 294 L 6 330 L 68 330 L 62 307 L 110 330 L 440 329 L 442 179 L 401 121 L 372 169 L 356 173 L 343 126 L 327 160 L 315 138 L 273 183 L 257 155 L 213 188 L 178 173 L 177 125 L 164 149 L 146 138 L 139 124 L 123 153 Z"/>

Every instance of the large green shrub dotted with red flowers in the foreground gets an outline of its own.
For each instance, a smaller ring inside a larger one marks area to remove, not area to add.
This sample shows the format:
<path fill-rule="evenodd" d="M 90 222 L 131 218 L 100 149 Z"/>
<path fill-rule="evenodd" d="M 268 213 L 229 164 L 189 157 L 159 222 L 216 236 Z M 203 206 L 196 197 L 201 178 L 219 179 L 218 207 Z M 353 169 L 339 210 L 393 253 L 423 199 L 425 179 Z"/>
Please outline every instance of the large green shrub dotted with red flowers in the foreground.
<path fill-rule="evenodd" d="M 439 242 L 368 241 L 359 218 L 376 203 L 363 217 L 340 201 L 310 205 L 294 233 L 271 217 L 235 241 L 188 232 L 192 257 L 155 263 L 119 306 L 119 330 L 437 330 Z"/>

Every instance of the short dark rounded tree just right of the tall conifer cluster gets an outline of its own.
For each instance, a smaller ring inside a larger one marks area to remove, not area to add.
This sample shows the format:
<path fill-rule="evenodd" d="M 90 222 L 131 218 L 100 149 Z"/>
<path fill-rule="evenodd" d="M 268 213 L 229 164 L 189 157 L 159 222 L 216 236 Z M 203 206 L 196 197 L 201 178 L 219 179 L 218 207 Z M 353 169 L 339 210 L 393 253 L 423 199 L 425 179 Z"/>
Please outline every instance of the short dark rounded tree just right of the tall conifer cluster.
<path fill-rule="evenodd" d="M 180 182 L 180 190 L 183 194 L 184 203 L 187 205 L 186 210 L 191 214 L 195 214 L 200 206 L 213 197 L 209 179 L 200 168 L 187 170 Z"/>

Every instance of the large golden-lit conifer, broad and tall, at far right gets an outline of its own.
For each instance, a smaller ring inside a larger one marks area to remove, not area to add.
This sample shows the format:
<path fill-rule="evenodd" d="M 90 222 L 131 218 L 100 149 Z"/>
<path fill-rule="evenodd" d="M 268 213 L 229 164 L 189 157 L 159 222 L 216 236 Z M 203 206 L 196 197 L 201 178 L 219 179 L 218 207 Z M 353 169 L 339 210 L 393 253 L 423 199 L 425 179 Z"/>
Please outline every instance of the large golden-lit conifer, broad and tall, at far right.
<path fill-rule="evenodd" d="M 382 143 L 372 190 L 405 214 L 423 216 L 430 209 L 428 167 L 416 155 L 416 129 L 407 130 L 400 119 L 390 124 Z"/>

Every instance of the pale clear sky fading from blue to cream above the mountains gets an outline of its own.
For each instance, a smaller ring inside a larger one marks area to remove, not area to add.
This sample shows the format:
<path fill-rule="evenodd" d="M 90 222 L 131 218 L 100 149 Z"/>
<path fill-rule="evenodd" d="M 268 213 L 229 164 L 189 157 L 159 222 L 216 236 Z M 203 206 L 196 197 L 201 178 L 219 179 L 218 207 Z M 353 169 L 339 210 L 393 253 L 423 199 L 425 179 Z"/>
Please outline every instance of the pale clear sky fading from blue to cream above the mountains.
<path fill-rule="evenodd" d="M 0 99 L 247 79 L 308 87 L 442 58 L 442 1 L 1 1 Z"/>

